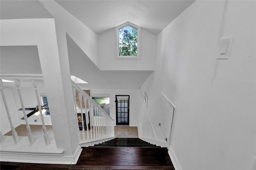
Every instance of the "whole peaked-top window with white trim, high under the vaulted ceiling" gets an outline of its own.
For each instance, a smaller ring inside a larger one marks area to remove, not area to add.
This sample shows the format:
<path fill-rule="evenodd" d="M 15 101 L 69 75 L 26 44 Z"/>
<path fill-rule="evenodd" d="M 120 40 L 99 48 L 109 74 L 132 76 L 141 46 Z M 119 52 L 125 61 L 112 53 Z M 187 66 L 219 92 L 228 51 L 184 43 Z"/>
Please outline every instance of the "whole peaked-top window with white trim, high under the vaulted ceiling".
<path fill-rule="evenodd" d="M 116 28 L 116 59 L 140 59 L 140 30 L 129 22 Z"/>

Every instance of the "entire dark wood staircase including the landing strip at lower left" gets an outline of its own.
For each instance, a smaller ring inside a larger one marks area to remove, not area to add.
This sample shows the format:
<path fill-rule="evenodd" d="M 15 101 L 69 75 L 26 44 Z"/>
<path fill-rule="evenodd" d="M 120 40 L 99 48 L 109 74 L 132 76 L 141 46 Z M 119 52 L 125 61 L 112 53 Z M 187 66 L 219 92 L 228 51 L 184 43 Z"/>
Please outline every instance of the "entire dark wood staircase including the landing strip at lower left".
<path fill-rule="evenodd" d="M 1 162 L 1 170 L 174 170 L 167 148 L 139 138 L 115 138 L 83 147 L 75 165 Z"/>

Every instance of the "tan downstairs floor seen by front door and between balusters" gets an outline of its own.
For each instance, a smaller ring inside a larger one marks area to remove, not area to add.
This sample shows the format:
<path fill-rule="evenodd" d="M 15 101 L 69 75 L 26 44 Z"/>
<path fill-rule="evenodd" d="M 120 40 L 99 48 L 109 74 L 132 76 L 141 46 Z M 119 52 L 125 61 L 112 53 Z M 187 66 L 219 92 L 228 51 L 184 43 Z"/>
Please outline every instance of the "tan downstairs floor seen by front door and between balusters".
<path fill-rule="evenodd" d="M 47 129 L 48 136 L 54 137 L 52 126 L 46 125 L 46 129 Z M 15 128 L 15 130 L 16 130 L 18 136 L 28 136 L 26 125 L 19 125 L 18 127 Z M 43 136 L 43 134 L 44 134 L 42 125 L 30 125 L 30 130 L 31 130 L 31 133 L 33 134 L 33 136 L 35 136 L 35 137 Z M 116 138 L 138 138 L 137 127 L 115 126 L 114 130 L 115 130 Z M 82 133 L 82 131 L 80 131 L 80 132 Z M 93 132 L 93 130 L 92 130 L 92 132 Z M 12 136 L 12 131 L 10 131 L 4 135 Z M 82 137 L 82 134 L 80 134 L 80 136 Z"/>

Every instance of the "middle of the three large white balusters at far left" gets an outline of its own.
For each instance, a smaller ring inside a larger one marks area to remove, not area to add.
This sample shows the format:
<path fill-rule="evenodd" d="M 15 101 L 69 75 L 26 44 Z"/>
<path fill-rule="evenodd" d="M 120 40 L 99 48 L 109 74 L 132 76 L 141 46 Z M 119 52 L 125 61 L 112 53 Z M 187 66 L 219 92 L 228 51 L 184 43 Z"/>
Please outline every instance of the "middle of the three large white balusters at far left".
<path fill-rule="evenodd" d="M 23 115 L 24 115 L 24 120 L 26 122 L 26 128 L 27 128 L 27 131 L 28 131 L 28 140 L 29 140 L 30 144 L 33 144 L 32 133 L 31 133 L 31 130 L 30 130 L 30 126 L 28 124 L 28 117 L 26 115 L 26 111 L 25 111 L 22 95 L 21 95 L 21 92 L 20 92 L 20 80 L 14 80 L 14 83 L 15 83 L 15 86 L 17 87 L 18 94 L 19 94 L 19 97 L 20 97 L 20 103 L 21 103 L 21 107 L 22 107 L 22 112 L 23 112 Z"/>

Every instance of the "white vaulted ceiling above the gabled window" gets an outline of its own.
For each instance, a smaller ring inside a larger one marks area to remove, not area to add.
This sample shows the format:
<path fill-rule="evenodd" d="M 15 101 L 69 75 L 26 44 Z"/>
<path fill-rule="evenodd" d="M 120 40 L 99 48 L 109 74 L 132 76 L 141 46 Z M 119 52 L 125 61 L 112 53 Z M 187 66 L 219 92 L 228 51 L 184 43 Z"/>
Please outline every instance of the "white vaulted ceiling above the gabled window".
<path fill-rule="evenodd" d="M 56 0 L 96 34 L 131 22 L 157 35 L 194 0 Z"/>

